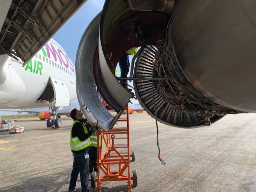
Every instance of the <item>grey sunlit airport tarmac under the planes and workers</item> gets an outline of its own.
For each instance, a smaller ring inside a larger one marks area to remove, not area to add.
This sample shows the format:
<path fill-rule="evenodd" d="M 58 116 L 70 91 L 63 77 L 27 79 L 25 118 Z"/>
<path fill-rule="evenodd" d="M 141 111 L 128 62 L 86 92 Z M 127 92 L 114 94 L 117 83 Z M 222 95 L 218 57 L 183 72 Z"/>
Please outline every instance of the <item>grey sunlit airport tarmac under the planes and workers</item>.
<path fill-rule="evenodd" d="M 155 119 L 146 113 L 134 113 L 129 119 L 135 151 L 130 165 L 138 172 L 133 192 L 256 191 L 256 114 L 226 115 L 210 127 L 194 129 L 158 123 L 165 166 L 157 158 Z M 0 191 L 68 191 L 72 119 L 63 119 L 62 128 L 52 130 L 40 120 L 15 124 L 25 132 L 0 132 Z M 81 191 L 80 178 L 77 189 Z M 102 183 L 102 192 L 126 190 L 125 181 Z"/>

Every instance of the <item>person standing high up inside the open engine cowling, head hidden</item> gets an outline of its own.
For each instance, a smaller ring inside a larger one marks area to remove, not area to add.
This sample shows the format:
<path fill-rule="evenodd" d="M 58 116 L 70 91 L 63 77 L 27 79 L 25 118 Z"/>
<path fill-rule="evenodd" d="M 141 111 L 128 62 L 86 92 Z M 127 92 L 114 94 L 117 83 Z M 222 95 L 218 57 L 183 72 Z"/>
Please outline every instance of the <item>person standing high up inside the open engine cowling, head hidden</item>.
<path fill-rule="evenodd" d="M 135 53 L 137 52 L 138 47 L 133 47 L 131 49 L 129 49 L 128 51 L 126 51 L 126 53 L 124 53 L 122 55 L 122 57 L 119 59 L 118 63 L 119 63 L 119 67 L 120 67 L 120 71 L 121 71 L 121 76 L 123 78 L 126 78 L 128 73 L 129 73 L 129 67 L 130 67 L 130 62 L 129 62 L 129 55 L 134 56 Z M 126 81 L 125 80 L 121 80 L 120 83 L 123 87 L 126 87 Z"/>

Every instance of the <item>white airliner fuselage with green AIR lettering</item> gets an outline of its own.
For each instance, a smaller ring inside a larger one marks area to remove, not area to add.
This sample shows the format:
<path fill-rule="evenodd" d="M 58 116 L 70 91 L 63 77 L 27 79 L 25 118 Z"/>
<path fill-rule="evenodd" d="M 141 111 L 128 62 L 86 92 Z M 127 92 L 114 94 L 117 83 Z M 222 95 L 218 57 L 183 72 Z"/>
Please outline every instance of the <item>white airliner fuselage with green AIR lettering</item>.
<path fill-rule="evenodd" d="M 3 84 L 0 84 L 0 108 L 55 106 L 55 102 L 36 102 L 45 90 L 50 76 L 65 82 L 69 90 L 70 101 L 76 98 L 75 68 L 72 61 L 55 40 L 51 39 L 47 44 L 48 47 L 52 48 L 53 46 L 57 53 L 59 51 L 61 56 L 58 57 L 58 54 L 55 53 L 55 55 L 57 54 L 55 59 L 54 54 L 48 51 L 48 55 L 46 46 L 43 46 L 46 54 L 41 49 L 25 67 L 22 67 L 20 62 L 11 57 L 7 59 L 4 64 L 6 80 Z M 0 65 L 3 65 L 3 63 L 0 63 Z"/>

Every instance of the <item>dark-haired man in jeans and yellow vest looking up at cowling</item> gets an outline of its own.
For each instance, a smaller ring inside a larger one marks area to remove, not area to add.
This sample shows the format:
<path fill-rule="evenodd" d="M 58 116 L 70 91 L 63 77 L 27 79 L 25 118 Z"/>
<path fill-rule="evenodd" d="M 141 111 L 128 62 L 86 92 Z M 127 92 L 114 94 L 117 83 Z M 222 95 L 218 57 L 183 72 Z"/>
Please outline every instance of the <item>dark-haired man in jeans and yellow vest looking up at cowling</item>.
<path fill-rule="evenodd" d="M 70 132 L 70 147 L 73 153 L 73 169 L 70 176 L 69 192 L 76 191 L 76 179 L 80 172 L 81 186 L 83 192 L 89 192 L 89 146 L 90 136 L 98 127 L 86 127 L 86 119 L 83 119 L 82 111 L 76 108 L 70 112 L 70 117 L 74 120 Z"/>

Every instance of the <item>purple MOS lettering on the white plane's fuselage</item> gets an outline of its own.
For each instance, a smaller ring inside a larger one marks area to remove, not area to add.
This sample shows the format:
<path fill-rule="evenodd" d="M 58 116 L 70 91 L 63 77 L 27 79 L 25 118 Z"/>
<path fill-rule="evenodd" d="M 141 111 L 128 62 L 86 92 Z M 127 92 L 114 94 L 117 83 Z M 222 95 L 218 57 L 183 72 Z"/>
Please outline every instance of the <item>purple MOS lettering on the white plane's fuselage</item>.
<path fill-rule="evenodd" d="M 66 53 L 63 53 L 63 51 L 60 50 L 59 48 L 56 51 L 55 47 L 50 42 L 45 44 L 45 48 L 46 48 L 47 57 L 49 59 L 51 58 L 51 55 L 52 55 L 54 60 L 57 61 L 57 57 L 58 57 L 61 65 L 63 64 L 67 69 L 70 68 L 71 71 L 74 72 L 73 64 Z"/>

